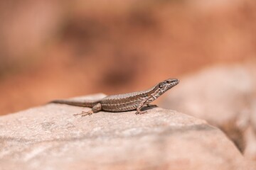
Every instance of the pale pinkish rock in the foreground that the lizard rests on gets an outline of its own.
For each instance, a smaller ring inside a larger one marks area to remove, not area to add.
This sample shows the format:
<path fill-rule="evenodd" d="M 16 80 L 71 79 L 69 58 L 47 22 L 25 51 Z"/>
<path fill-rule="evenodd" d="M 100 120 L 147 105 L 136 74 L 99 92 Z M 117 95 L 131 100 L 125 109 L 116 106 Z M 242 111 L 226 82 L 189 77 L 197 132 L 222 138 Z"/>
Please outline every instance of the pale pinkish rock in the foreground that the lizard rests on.
<path fill-rule="evenodd" d="M 204 120 L 162 108 L 73 116 L 87 109 L 50 103 L 1 116 L 0 169 L 253 169 Z"/>

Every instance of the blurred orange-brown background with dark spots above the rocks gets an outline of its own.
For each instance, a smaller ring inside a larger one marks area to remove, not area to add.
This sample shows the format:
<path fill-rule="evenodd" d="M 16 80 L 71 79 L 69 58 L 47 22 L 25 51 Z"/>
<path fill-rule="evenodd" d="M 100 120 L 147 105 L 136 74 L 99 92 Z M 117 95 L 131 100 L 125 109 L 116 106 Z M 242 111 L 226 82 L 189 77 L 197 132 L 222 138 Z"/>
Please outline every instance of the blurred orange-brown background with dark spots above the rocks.
<path fill-rule="evenodd" d="M 0 114 L 254 60 L 256 1 L 0 1 Z"/>

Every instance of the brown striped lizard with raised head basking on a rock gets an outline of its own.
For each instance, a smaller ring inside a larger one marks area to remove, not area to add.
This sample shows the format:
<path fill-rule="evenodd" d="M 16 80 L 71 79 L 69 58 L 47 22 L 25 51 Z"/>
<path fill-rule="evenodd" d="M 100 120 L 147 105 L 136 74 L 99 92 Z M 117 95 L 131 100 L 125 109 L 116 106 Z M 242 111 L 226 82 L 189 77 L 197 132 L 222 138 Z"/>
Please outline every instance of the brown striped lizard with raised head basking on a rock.
<path fill-rule="evenodd" d="M 156 98 L 164 94 L 172 87 L 176 86 L 178 83 L 178 79 L 166 79 L 159 82 L 151 89 L 145 91 L 137 91 L 129 94 L 110 95 L 99 100 L 55 100 L 50 101 L 50 103 L 60 103 L 71 106 L 92 108 L 90 111 L 82 111 L 82 113 L 75 114 L 82 116 L 92 115 L 92 113 L 97 113 L 99 111 L 122 112 L 136 110 L 136 114 L 143 114 L 146 113 L 146 111 L 142 111 L 144 106 L 150 106 L 149 103 L 156 100 Z"/>

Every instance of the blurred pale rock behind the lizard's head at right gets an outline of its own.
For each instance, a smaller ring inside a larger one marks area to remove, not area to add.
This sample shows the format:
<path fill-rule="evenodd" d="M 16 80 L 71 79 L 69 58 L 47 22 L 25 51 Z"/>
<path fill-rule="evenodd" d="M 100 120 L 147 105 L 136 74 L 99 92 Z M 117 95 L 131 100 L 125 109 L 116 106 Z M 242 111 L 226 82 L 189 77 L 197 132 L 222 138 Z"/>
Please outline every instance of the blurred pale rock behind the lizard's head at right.
<path fill-rule="evenodd" d="M 160 106 L 207 120 L 223 130 L 246 157 L 256 160 L 254 68 L 255 64 L 237 64 L 204 69 L 181 79 Z"/>

